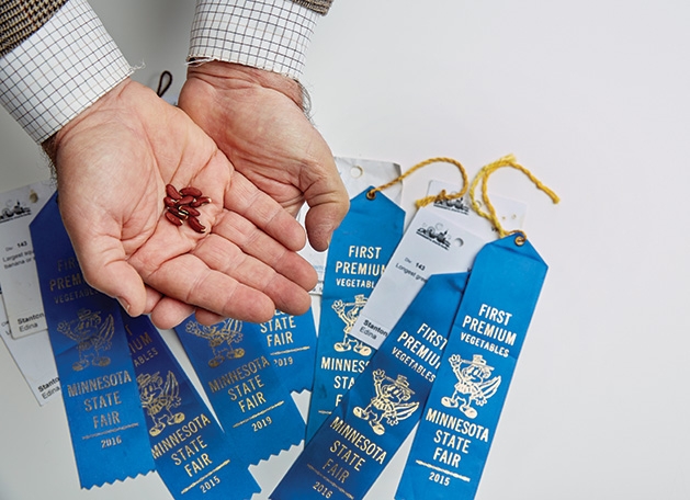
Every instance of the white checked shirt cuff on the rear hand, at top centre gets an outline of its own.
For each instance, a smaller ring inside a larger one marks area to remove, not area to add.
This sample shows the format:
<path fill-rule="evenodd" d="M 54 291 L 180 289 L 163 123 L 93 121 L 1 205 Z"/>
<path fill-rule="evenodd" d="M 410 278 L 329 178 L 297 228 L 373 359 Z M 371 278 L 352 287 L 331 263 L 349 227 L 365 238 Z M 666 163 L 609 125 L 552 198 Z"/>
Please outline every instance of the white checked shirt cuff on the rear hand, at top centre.
<path fill-rule="evenodd" d="M 289 0 L 197 0 L 186 60 L 237 63 L 298 80 L 318 18 Z"/>

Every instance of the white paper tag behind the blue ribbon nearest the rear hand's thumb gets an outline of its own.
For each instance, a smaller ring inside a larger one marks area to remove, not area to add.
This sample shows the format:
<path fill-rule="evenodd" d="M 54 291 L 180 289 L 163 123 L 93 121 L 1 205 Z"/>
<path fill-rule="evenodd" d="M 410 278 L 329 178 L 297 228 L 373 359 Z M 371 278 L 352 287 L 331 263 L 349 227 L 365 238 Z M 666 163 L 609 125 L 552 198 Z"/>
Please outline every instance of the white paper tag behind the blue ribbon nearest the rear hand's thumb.
<path fill-rule="evenodd" d="M 370 185 L 383 185 L 397 179 L 400 175 L 400 166 L 389 161 L 363 160 L 358 158 L 339 158 L 336 157 L 336 167 L 340 178 L 348 190 L 350 200 L 360 194 Z M 397 183 L 386 190 L 386 196 L 400 205 L 403 197 L 403 184 Z M 297 220 L 304 225 L 308 207 L 305 205 L 297 214 Z M 309 243 L 299 251 L 316 270 L 318 274 L 318 283 L 312 289 L 310 294 L 321 295 L 324 291 L 324 272 L 326 271 L 326 255 L 328 251 L 317 252 Z"/>

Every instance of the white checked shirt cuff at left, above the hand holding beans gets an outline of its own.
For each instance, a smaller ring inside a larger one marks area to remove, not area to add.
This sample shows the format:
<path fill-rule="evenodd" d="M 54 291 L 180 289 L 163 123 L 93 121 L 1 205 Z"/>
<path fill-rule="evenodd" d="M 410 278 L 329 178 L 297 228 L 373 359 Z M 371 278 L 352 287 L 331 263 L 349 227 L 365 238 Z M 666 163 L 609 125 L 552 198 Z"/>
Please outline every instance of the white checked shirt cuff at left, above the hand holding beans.
<path fill-rule="evenodd" d="M 86 0 L 71 0 L 0 58 L 0 103 L 38 144 L 133 68 Z"/>

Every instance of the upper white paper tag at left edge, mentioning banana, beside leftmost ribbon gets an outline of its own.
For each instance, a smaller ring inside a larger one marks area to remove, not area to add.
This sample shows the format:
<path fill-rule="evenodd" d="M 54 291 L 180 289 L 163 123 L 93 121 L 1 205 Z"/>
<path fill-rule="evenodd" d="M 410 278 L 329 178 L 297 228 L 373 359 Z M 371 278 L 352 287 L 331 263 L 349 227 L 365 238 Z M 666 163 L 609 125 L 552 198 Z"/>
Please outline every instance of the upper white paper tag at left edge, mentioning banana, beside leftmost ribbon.
<path fill-rule="evenodd" d="M 29 224 L 54 191 L 45 181 L 0 193 L 0 286 L 14 339 L 47 329 Z"/>

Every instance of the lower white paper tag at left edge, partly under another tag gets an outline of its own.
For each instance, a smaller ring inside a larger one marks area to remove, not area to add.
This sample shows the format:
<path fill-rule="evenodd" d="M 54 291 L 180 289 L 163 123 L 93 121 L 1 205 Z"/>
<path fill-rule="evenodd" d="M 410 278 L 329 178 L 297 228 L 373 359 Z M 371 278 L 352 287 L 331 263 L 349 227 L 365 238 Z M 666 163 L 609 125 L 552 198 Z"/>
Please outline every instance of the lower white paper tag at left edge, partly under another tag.
<path fill-rule="evenodd" d="M 60 394 L 60 383 L 57 377 L 55 359 L 48 339 L 48 331 L 13 339 L 10 334 L 10 325 L 2 306 L 2 293 L 0 292 L 0 337 L 8 346 L 8 351 L 14 359 L 14 363 L 31 387 L 38 405 L 43 406 Z"/>

